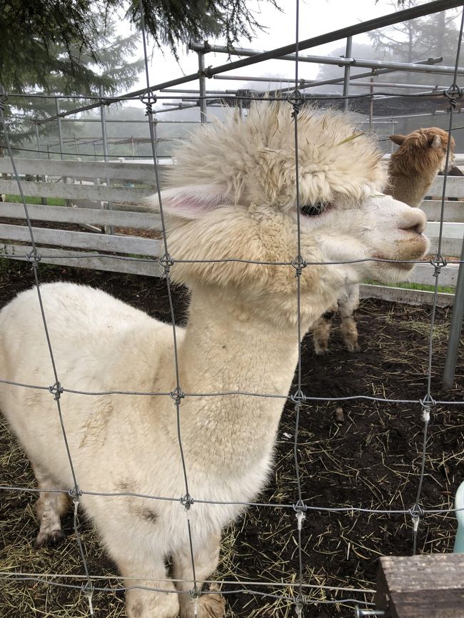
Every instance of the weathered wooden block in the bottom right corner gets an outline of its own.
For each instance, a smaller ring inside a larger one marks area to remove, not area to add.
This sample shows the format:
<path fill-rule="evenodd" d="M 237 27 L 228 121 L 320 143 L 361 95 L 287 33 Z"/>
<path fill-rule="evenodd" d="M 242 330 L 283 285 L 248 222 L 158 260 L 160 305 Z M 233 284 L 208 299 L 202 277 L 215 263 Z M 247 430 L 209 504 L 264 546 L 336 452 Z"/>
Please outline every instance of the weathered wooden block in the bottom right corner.
<path fill-rule="evenodd" d="M 464 618 L 464 554 L 380 558 L 376 609 L 385 618 Z"/>

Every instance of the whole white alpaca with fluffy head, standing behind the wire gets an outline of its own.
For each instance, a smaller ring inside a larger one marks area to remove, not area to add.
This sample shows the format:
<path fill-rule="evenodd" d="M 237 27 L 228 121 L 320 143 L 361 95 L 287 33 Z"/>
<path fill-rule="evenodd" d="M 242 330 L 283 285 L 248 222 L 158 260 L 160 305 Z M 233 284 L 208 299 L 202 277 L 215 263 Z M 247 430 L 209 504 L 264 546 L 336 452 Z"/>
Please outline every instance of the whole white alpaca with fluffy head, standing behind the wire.
<path fill-rule="evenodd" d="M 272 465 L 283 400 L 298 357 L 297 257 L 293 118 L 287 103 L 256 104 L 244 120 L 203 126 L 176 153 L 163 193 L 173 280 L 191 289 L 190 318 L 178 328 L 181 437 L 193 500 L 250 502 Z M 427 248 L 425 216 L 378 196 L 385 171 L 371 138 L 348 138 L 349 118 L 303 109 L 298 116 L 301 255 L 308 262 L 363 258 L 416 259 Z M 156 203 L 156 200 L 153 200 Z M 305 214 L 306 213 L 306 214 Z M 307 265 L 301 273 L 301 326 L 306 332 L 333 305 L 342 285 L 368 276 L 396 281 L 394 263 Z M 42 297 L 61 384 L 86 391 L 172 392 L 176 387 L 170 325 L 99 290 L 54 283 Z M 21 293 L 0 314 L 0 377 L 51 385 L 36 290 Z M 29 456 L 42 489 L 68 490 L 73 480 L 53 396 L 0 384 L 0 406 Z M 171 397 L 61 395 L 66 435 L 81 490 L 137 492 L 179 499 L 186 494 L 176 407 Z M 84 494 L 81 504 L 127 586 L 130 618 L 193 617 L 188 528 L 177 500 Z M 40 546 L 61 536 L 66 500 L 39 497 Z M 189 510 L 198 582 L 218 564 L 221 529 L 240 505 L 194 502 Z M 173 559 L 174 584 L 166 555 Z M 136 579 L 131 579 L 136 578 Z M 201 584 L 200 584 L 201 586 Z M 170 591 L 170 592 L 169 592 Z M 218 594 L 198 600 L 200 617 L 223 612 Z"/>

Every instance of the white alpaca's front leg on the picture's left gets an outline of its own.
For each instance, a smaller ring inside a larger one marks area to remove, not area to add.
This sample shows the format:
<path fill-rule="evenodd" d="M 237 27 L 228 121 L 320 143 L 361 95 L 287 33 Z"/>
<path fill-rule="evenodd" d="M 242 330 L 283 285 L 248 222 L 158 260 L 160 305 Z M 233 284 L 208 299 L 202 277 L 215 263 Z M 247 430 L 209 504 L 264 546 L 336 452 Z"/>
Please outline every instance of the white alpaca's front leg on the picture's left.
<path fill-rule="evenodd" d="M 126 555 L 130 553 L 128 549 Z M 126 587 L 127 618 L 175 618 L 179 611 L 178 594 L 168 579 L 163 557 L 142 558 L 143 555 L 131 562 L 124 557 L 116 558 Z"/>

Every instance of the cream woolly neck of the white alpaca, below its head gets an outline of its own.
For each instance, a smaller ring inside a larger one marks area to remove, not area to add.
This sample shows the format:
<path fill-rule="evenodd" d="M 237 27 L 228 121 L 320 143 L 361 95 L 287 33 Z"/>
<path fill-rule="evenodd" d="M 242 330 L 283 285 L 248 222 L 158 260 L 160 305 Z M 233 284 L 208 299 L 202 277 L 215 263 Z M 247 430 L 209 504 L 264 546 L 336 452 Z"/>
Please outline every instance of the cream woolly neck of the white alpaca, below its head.
<path fill-rule="evenodd" d="M 193 290 L 178 359 L 183 392 L 286 397 L 298 359 L 298 334 L 295 327 L 270 323 L 266 312 L 260 315 L 233 303 L 231 295 L 221 298 L 198 288 Z M 268 461 L 284 402 L 281 397 L 187 395 L 181 417 L 188 465 L 207 460 L 208 467 L 224 475 L 235 475 L 239 469 L 246 475 L 252 462 Z M 205 444 L 211 448 L 205 449 Z"/>

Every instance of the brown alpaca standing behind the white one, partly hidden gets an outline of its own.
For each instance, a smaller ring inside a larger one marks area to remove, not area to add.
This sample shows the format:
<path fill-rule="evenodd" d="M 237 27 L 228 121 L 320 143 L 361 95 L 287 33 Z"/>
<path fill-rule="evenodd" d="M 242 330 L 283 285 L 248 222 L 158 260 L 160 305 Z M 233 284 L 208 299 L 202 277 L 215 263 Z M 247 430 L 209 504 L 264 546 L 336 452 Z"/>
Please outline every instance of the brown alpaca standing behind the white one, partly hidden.
<path fill-rule="evenodd" d="M 388 163 L 388 185 L 385 193 L 408 206 L 420 206 L 435 176 L 445 170 L 448 132 L 436 126 L 418 128 L 408 135 L 390 135 L 390 140 L 400 146 Z M 454 165 L 455 141 L 451 138 L 450 161 Z M 358 352 L 358 328 L 355 310 L 359 306 L 359 285 L 343 289 L 336 305 L 321 316 L 313 326 L 314 351 L 328 351 L 333 315 L 338 311 L 341 333 L 348 352 Z"/>

